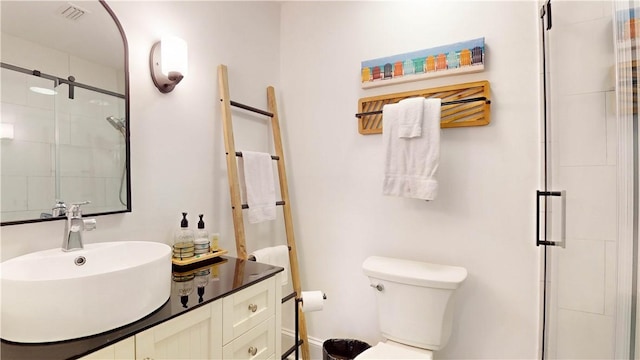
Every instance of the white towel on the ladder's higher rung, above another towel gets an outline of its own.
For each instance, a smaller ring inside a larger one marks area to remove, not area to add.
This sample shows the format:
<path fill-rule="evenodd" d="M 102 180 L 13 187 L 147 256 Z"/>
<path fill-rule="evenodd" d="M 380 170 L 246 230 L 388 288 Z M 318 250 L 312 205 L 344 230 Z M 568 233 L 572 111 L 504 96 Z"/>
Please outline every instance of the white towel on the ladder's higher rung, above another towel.
<path fill-rule="evenodd" d="M 276 190 L 271 155 L 243 151 L 244 183 L 247 190 L 247 217 L 255 224 L 276 218 Z"/>

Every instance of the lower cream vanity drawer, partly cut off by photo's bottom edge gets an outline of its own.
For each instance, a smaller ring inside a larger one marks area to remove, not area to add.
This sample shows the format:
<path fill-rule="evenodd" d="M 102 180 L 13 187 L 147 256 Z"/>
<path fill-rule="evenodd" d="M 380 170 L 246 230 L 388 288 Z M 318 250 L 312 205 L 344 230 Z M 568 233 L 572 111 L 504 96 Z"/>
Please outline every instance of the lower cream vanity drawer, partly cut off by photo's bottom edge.
<path fill-rule="evenodd" d="M 222 348 L 223 359 L 269 359 L 275 351 L 275 318 L 271 316 Z"/>

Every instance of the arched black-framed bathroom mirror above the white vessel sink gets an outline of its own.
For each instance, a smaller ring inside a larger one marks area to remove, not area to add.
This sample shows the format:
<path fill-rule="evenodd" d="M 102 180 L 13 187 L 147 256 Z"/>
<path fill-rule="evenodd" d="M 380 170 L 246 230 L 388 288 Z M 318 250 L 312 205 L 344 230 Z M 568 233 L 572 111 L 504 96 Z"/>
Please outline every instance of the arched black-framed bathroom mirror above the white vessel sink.
<path fill-rule="evenodd" d="M 127 41 L 100 1 L 0 1 L 2 225 L 131 211 Z"/>

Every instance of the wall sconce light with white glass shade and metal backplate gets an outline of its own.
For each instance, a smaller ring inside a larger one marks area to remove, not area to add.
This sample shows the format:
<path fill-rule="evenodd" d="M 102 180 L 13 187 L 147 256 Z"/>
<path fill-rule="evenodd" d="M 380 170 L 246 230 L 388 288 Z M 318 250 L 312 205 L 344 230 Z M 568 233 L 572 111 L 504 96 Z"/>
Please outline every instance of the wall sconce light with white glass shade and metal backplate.
<path fill-rule="evenodd" d="M 187 43 L 175 36 L 163 37 L 151 48 L 151 78 L 161 93 L 168 93 L 187 75 Z"/>

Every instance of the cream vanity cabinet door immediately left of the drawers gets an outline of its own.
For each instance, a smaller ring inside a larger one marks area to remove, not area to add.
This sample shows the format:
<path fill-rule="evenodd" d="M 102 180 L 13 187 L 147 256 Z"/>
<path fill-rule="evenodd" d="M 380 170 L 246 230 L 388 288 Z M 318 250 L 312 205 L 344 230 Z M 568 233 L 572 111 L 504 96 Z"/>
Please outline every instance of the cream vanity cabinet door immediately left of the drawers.
<path fill-rule="evenodd" d="M 222 358 L 222 302 L 214 301 L 136 335 L 136 359 Z"/>

